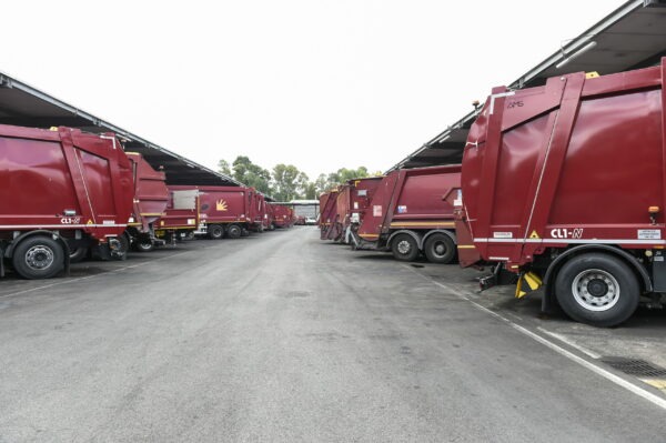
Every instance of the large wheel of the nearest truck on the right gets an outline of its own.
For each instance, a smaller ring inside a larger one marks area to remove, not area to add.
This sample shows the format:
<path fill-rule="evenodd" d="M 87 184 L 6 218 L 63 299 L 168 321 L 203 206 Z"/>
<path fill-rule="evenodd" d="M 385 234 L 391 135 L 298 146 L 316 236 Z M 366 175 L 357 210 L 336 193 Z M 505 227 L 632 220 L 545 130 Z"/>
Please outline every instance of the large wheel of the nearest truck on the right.
<path fill-rule="evenodd" d="M 575 256 L 555 279 L 555 294 L 572 319 L 593 326 L 615 326 L 638 306 L 636 275 L 622 260 L 602 253 Z"/>

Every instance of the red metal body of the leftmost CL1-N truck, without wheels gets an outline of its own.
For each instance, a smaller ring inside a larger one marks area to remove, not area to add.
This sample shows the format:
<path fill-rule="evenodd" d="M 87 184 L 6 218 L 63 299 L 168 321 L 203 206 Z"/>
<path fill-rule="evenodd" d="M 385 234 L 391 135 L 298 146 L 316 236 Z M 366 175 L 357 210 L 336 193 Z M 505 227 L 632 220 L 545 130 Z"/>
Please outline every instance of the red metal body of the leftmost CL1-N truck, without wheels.
<path fill-rule="evenodd" d="M 0 235 L 79 230 L 105 243 L 125 230 L 134 195 L 114 134 L 0 125 Z"/>

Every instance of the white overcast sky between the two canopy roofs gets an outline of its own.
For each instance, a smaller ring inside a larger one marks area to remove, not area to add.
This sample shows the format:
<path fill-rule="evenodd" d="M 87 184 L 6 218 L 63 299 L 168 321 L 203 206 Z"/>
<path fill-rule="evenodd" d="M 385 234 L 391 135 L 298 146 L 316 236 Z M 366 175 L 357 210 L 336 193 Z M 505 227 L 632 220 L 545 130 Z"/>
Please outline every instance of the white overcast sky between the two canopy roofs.
<path fill-rule="evenodd" d="M 205 167 L 385 171 L 617 0 L 13 1 L 0 71 Z"/>

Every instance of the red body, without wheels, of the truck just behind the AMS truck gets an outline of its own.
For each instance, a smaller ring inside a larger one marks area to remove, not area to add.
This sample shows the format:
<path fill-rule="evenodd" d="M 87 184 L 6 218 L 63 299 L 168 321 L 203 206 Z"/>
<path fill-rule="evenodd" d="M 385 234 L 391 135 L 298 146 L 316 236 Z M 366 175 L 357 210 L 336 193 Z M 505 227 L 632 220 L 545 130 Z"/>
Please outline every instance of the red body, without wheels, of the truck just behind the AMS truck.
<path fill-rule="evenodd" d="M 461 167 L 404 169 L 374 184 L 357 234 L 374 242 L 393 230 L 452 229 L 453 205 L 446 197 L 460 188 Z"/>

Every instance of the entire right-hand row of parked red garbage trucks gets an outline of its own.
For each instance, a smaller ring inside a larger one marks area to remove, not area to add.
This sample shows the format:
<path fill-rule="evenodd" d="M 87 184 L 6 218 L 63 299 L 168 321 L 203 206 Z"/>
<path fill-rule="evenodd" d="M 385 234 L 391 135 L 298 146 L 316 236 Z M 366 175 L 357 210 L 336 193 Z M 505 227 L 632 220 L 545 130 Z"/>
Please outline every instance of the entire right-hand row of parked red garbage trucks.
<path fill-rule="evenodd" d="M 543 310 L 623 323 L 666 302 L 666 58 L 616 74 L 501 87 L 462 164 L 352 180 L 320 199 L 323 240 L 491 269 Z"/>

